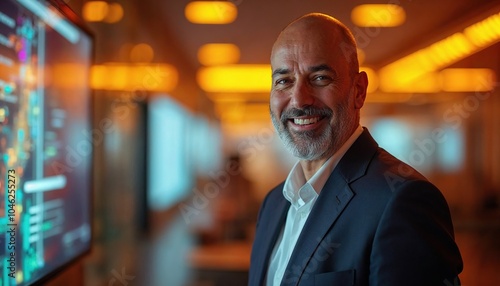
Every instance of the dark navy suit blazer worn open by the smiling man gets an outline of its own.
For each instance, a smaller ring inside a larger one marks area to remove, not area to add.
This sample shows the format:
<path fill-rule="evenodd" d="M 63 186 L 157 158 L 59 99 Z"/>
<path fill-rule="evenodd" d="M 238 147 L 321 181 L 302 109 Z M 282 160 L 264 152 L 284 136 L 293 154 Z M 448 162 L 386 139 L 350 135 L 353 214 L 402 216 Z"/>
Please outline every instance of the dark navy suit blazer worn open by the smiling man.
<path fill-rule="evenodd" d="M 265 285 L 285 224 L 290 203 L 283 185 L 259 212 L 251 286 Z M 441 192 L 365 129 L 321 190 L 281 285 L 455 286 L 462 267 Z"/>

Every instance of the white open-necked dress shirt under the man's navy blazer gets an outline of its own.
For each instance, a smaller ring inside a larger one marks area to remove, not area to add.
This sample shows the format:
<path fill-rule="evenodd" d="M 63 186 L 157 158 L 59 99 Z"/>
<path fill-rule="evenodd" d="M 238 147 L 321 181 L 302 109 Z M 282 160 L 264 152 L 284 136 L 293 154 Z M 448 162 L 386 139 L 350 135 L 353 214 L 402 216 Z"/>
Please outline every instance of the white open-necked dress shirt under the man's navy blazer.
<path fill-rule="evenodd" d="M 281 284 L 297 239 L 321 189 L 323 189 L 323 186 L 342 156 L 344 156 L 345 152 L 347 152 L 362 132 L 363 128 L 358 126 L 344 145 L 307 182 L 300 162 L 297 162 L 288 174 L 283 186 L 283 196 L 291 203 L 291 206 L 288 209 L 285 226 L 276 241 L 270 257 L 266 277 L 267 286 Z"/>

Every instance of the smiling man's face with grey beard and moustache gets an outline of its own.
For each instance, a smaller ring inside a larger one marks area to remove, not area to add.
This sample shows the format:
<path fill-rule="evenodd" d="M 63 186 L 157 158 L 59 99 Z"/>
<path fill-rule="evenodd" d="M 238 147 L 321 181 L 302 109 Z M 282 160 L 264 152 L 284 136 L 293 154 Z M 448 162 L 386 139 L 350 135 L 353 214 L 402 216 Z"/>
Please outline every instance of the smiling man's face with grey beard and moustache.
<path fill-rule="evenodd" d="M 270 110 L 287 148 L 304 160 L 325 159 L 357 127 L 353 76 L 340 37 L 285 31 L 271 55 Z"/>

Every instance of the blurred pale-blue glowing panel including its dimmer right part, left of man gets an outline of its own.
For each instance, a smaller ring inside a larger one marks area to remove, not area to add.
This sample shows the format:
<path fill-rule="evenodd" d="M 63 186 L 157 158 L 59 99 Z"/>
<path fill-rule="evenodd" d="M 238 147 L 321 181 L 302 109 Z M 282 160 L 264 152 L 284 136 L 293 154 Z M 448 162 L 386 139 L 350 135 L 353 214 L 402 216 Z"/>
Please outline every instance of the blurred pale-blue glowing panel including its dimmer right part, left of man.
<path fill-rule="evenodd" d="M 216 124 L 168 95 L 151 97 L 147 121 L 148 207 L 161 211 L 196 196 L 197 178 L 217 178 L 222 135 Z"/>

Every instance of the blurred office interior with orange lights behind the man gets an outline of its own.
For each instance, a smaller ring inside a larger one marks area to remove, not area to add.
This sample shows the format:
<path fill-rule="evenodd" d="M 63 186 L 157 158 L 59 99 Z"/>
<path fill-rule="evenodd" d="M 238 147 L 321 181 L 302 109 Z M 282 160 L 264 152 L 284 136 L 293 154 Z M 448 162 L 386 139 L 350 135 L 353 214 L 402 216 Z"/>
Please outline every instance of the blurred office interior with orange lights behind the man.
<path fill-rule="evenodd" d="M 259 204 L 295 162 L 270 49 L 324 12 L 358 41 L 362 124 L 448 200 L 463 285 L 500 285 L 500 1 L 66 2 L 96 41 L 94 244 L 52 284 L 245 285 Z"/>

